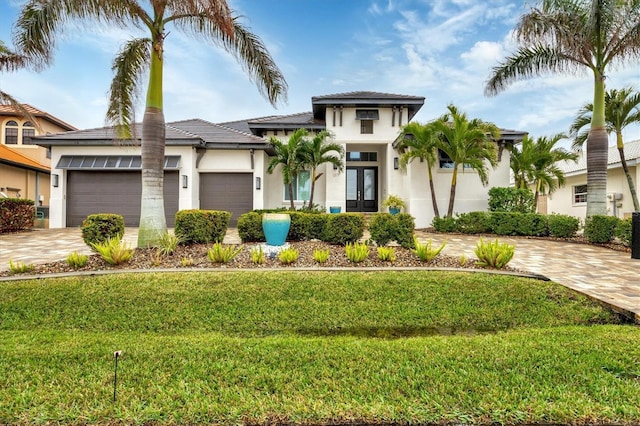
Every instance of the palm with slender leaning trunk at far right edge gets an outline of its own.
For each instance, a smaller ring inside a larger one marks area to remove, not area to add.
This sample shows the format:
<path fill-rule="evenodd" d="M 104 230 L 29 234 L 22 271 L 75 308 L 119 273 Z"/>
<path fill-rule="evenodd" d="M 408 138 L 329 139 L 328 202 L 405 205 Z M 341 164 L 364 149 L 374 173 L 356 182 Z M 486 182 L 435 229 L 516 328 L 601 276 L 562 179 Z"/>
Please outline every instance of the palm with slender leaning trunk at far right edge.
<path fill-rule="evenodd" d="M 591 122 L 592 115 L 593 104 L 591 103 L 585 104 L 580 108 L 580 111 L 578 111 L 578 116 L 571 124 L 570 129 L 571 134 L 575 137 L 573 148 L 582 147 L 587 140 L 589 132 L 582 129 Z M 604 116 L 607 134 L 616 134 L 616 146 L 620 154 L 622 169 L 629 184 L 629 192 L 631 192 L 631 199 L 633 200 L 633 209 L 640 211 L 636 187 L 624 155 L 624 140 L 622 138 L 622 130 L 625 127 L 640 122 L 640 92 L 634 92 L 632 87 L 626 87 L 620 90 L 607 90 L 604 95 Z"/>

